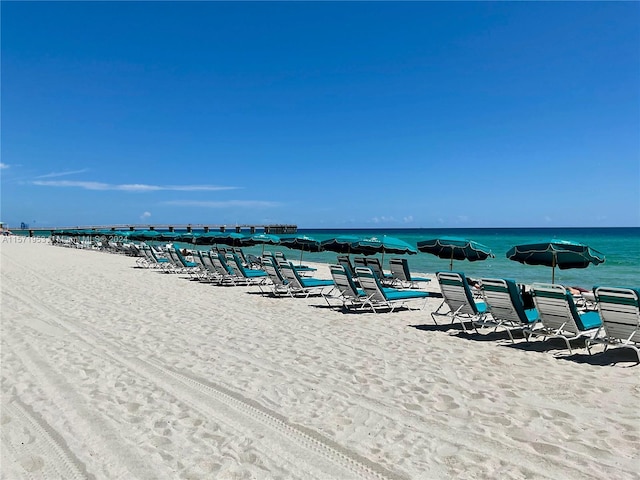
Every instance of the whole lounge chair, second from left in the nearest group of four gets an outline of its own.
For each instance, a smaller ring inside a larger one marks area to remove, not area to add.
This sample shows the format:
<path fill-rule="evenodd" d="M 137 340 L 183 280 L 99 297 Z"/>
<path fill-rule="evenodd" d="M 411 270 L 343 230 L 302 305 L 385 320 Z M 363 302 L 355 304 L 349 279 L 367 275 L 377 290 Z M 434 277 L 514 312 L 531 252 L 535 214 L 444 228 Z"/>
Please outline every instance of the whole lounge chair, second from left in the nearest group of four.
<path fill-rule="evenodd" d="M 480 281 L 486 311 L 490 315 L 474 321 L 476 327 L 504 328 L 513 342 L 512 331 L 532 329 L 538 322 L 535 308 L 525 309 L 520 289 L 513 280 L 483 278 Z"/>

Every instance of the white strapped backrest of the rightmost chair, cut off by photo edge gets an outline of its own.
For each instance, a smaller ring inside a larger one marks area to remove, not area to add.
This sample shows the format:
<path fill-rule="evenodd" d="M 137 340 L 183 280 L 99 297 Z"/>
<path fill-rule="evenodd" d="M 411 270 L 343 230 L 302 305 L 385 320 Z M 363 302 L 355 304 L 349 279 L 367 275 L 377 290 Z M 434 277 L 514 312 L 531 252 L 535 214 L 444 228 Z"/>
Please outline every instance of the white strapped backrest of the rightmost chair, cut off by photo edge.
<path fill-rule="evenodd" d="M 607 336 L 640 342 L 640 289 L 596 287 L 594 293 Z"/>

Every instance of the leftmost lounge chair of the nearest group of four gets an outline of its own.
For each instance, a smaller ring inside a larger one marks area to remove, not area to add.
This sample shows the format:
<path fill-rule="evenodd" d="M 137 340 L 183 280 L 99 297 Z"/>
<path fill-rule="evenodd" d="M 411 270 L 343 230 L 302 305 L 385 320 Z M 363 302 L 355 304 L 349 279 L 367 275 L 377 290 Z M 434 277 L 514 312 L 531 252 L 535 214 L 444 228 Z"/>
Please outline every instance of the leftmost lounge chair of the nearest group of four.
<path fill-rule="evenodd" d="M 484 319 L 487 306 L 484 302 L 474 299 L 464 273 L 436 272 L 436 278 L 440 284 L 443 301 L 440 306 L 431 313 L 431 318 L 435 324 L 438 324 L 436 318 L 446 317 L 451 319 L 451 323 L 459 320 L 465 332 L 467 331 L 465 325 L 466 320 L 470 320 L 475 329 L 473 322 Z"/>

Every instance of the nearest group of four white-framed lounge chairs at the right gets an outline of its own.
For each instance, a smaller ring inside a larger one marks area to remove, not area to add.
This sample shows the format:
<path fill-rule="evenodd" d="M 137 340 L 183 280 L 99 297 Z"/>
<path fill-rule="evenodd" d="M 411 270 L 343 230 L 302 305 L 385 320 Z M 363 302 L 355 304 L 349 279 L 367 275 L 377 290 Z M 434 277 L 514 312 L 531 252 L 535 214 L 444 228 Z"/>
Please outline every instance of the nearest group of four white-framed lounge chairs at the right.
<path fill-rule="evenodd" d="M 591 346 L 603 344 L 630 348 L 640 362 L 640 289 L 596 287 L 596 305 L 578 308 L 573 295 L 562 285 L 534 283 L 533 308 L 525 308 L 521 290 L 513 280 L 483 278 L 480 293 L 474 295 L 464 274 L 438 272 L 443 302 L 432 314 L 434 322 L 447 317 L 478 327 L 502 328 L 514 342 L 512 332 L 531 337 L 562 339 L 572 352 L 571 341 L 584 339 Z"/>

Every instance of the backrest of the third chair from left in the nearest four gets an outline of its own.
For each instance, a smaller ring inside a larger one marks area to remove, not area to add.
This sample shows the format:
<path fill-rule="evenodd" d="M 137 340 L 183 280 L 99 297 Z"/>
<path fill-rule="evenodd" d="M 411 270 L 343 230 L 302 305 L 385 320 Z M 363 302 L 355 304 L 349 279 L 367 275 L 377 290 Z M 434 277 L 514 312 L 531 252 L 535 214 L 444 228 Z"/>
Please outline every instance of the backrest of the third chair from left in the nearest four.
<path fill-rule="evenodd" d="M 573 296 L 564 286 L 534 283 L 531 290 L 533 303 L 545 327 L 576 334 L 586 330 L 573 302 Z"/>

